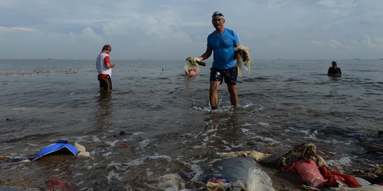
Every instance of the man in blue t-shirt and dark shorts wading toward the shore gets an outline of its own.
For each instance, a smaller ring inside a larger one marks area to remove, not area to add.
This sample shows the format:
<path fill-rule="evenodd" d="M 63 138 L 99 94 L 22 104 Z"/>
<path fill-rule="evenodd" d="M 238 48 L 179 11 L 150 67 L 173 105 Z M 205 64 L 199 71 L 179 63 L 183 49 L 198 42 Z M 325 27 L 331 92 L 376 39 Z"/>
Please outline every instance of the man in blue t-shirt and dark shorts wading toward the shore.
<path fill-rule="evenodd" d="M 237 33 L 234 30 L 224 28 L 225 18 L 219 11 L 211 16 L 211 23 L 216 28 L 207 38 L 206 52 L 201 57 L 196 58 L 198 61 L 208 59 L 213 54 L 213 66 L 210 71 L 210 90 L 209 100 L 212 110 L 218 108 L 218 86 L 225 80 L 230 93 L 231 105 L 238 105 L 237 96 L 237 76 L 238 69 L 235 62 L 235 47 L 240 46 Z"/>

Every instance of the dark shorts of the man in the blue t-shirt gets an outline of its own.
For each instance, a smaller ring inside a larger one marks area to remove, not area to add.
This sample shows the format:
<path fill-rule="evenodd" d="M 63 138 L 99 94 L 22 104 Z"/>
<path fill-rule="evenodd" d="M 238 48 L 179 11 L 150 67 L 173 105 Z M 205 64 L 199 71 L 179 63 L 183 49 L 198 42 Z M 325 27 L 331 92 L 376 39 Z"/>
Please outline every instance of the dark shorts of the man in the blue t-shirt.
<path fill-rule="evenodd" d="M 236 85 L 238 77 L 238 69 L 237 67 L 233 67 L 230 69 L 210 69 L 210 81 L 223 81 L 228 85 Z"/>

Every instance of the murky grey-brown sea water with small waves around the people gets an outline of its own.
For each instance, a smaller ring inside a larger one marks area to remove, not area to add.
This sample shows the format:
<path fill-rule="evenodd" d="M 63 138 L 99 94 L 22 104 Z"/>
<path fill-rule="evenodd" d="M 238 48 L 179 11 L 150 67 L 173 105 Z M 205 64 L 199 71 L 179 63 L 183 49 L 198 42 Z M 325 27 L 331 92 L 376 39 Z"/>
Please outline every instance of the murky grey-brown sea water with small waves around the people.
<path fill-rule="evenodd" d="M 0 181 L 153 190 L 176 175 L 174 187 L 204 190 L 196 182 L 221 160 L 216 152 L 303 142 L 343 173 L 382 163 L 383 60 L 337 60 L 339 78 L 326 75 L 331 60 L 254 60 L 238 78 L 238 108 L 223 83 L 214 111 L 209 60 L 195 77 L 184 75 L 184 60 L 113 62 L 113 93 L 104 95 L 94 60 L 0 59 L 0 156 L 33 156 L 59 140 L 91 154 L 0 163 Z"/>

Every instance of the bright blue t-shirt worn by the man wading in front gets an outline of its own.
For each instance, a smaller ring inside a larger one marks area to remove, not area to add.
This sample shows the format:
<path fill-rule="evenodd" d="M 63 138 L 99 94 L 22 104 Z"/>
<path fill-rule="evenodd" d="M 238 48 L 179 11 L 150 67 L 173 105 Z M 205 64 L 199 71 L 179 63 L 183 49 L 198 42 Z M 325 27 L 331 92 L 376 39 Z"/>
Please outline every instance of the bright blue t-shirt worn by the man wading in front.
<path fill-rule="evenodd" d="M 207 41 L 207 47 L 213 50 L 213 67 L 229 69 L 236 66 L 234 48 L 239 40 L 234 30 L 225 28 L 221 35 L 214 31 L 208 36 Z"/>

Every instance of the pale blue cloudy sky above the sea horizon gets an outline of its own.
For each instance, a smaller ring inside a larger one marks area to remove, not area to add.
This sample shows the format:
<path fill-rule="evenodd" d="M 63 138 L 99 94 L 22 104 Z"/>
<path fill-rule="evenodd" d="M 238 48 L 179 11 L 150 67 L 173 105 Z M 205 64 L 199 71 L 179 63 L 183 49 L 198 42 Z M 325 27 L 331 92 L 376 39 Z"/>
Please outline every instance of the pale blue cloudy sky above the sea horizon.
<path fill-rule="evenodd" d="M 382 0 L 0 0 L 1 59 L 185 59 L 221 11 L 252 59 L 383 58 Z"/>

